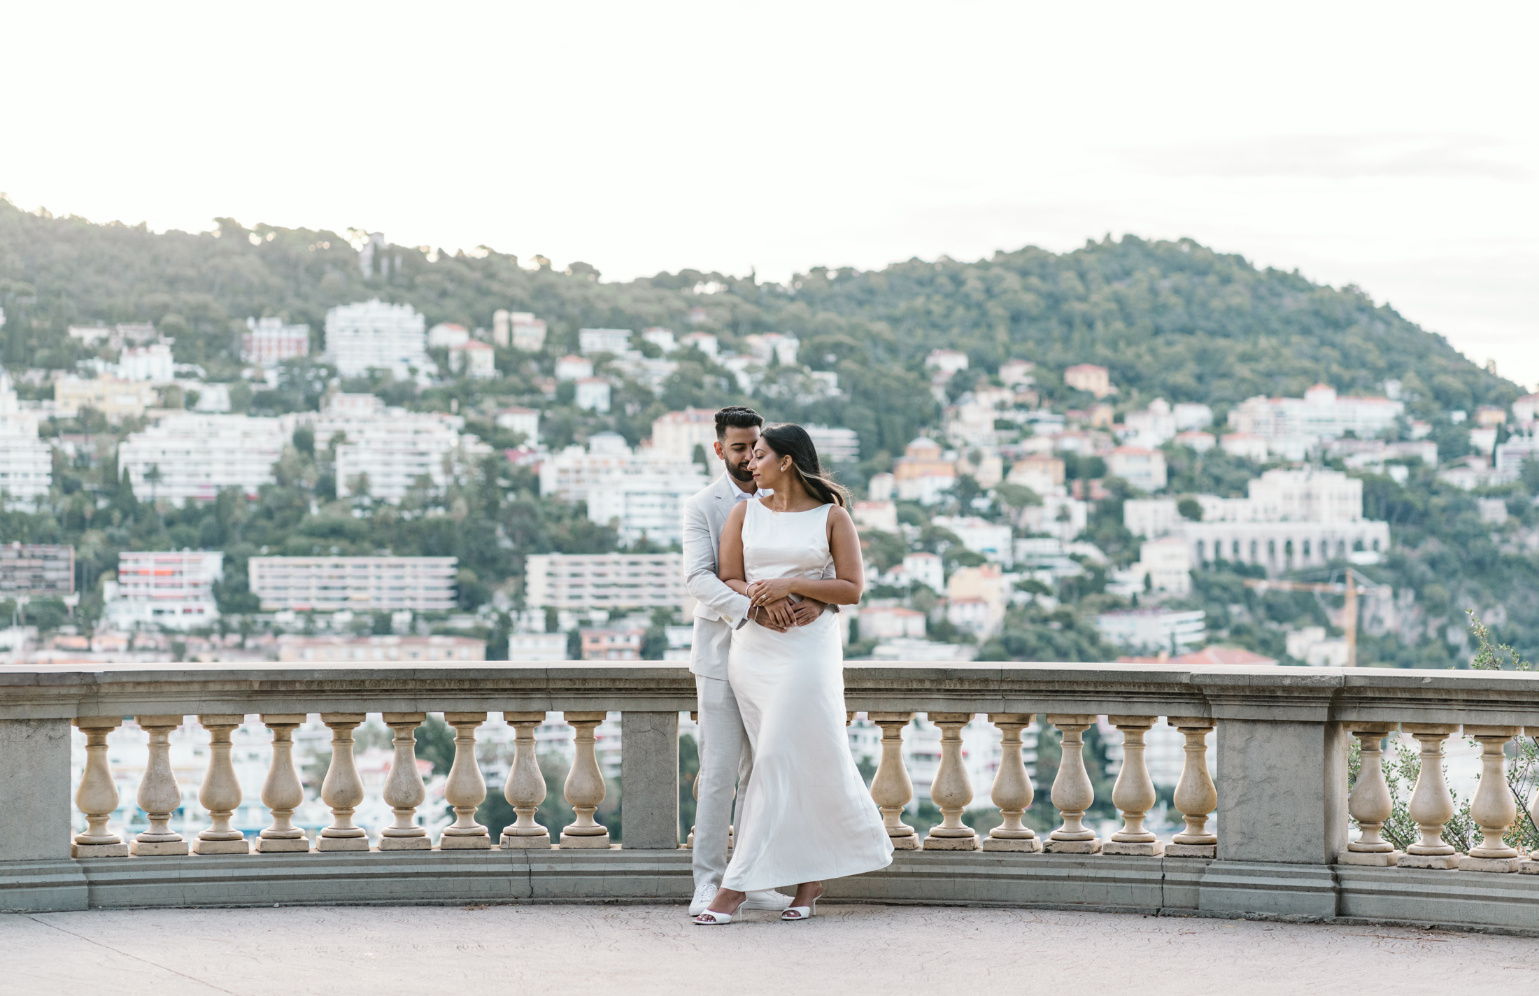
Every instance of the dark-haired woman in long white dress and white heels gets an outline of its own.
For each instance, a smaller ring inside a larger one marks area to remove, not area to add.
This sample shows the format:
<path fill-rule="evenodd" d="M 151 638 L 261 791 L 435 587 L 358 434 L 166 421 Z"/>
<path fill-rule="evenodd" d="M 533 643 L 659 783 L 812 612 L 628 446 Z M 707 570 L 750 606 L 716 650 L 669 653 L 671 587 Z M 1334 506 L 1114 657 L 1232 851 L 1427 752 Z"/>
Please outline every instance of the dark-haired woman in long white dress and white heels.
<path fill-rule="evenodd" d="M 722 526 L 720 577 L 749 599 L 726 674 L 754 751 L 737 842 L 722 888 L 696 924 L 729 924 L 751 890 L 796 884 L 783 921 L 805 921 L 820 879 L 893 862 L 893 844 L 850 756 L 843 651 L 825 611 L 783 633 L 785 597 L 856 605 L 865 577 L 845 494 L 822 473 L 799 425 L 766 428 L 749 463 L 762 499 L 739 502 Z M 834 577 L 822 580 L 833 559 Z M 771 623 L 759 625 L 759 619 Z M 774 627 L 774 628 L 771 628 Z"/>

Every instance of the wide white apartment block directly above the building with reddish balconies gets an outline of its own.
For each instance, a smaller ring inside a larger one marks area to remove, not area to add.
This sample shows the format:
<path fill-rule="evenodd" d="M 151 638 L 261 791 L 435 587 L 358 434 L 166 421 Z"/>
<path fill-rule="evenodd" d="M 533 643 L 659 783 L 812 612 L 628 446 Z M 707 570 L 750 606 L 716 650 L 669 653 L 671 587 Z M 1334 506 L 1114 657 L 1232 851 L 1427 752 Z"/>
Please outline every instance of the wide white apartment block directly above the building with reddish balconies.
<path fill-rule="evenodd" d="M 140 500 L 209 502 L 225 488 L 257 497 L 291 434 L 286 419 L 171 413 L 119 443 L 117 465 Z"/>

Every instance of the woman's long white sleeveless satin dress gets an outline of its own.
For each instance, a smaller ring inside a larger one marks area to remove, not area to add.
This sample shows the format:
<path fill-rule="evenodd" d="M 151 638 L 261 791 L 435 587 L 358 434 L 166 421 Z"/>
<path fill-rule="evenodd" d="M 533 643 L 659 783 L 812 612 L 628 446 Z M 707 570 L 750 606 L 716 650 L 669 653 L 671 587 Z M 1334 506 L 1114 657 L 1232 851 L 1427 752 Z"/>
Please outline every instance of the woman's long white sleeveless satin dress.
<path fill-rule="evenodd" d="M 828 510 L 774 513 L 746 502 L 748 582 L 823 576 Z M 893 864 L 893 842 L 850 756 L 839 616 L 786 633 L 748 622 L 726 674 L 754 751 L 723 888 L 751 891 L 837 879 Z"/>

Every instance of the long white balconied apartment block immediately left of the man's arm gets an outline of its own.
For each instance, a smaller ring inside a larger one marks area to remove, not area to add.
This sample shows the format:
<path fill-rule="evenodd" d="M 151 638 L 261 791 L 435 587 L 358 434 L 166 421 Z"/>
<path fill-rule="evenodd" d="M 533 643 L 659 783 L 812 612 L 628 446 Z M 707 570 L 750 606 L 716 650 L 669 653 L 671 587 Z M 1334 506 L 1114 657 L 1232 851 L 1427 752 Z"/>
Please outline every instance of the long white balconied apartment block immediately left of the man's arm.
<path fill-rule="evenodd" d="M 679 608 L 683 554 L 542 553 L 525 557 L 529 608 L 571 611 Z"/>

